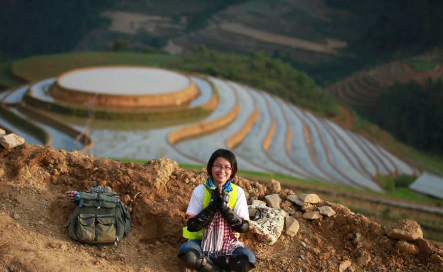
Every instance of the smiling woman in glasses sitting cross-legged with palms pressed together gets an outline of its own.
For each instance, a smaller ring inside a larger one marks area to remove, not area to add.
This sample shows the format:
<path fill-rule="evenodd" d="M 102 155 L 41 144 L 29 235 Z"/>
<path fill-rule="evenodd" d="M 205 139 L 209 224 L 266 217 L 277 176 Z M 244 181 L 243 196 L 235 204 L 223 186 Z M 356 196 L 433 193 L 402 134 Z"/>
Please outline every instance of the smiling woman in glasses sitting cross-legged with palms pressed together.
<path fill-rule="evenodd" d="M 243 189 L 231 184 L 237 172 L 237 159 L 226 149 L 216 150 L 206 166 L 208 179 L 197 186 L 189 201 L 188 241 L 178 257 L 186 267 L 198 271 L 248 271 L 255 267 L 255 256 L 238 240 L 249 231 L 249 214 Z"/>

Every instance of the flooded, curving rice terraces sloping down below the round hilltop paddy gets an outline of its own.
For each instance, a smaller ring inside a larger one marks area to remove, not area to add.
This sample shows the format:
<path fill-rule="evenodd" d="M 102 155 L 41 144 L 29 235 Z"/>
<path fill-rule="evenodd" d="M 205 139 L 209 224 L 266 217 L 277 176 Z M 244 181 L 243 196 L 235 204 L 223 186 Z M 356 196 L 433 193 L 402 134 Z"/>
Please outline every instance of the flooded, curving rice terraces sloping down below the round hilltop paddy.
<path fill-rule="evenodd" d="M 214 77 L 191 78 L 200 96 L 190 107 L 218 96 L 217 107 L 203 120 L 152 129 L 139 124 L 125 130 L 98 126 L 94 119 L 70 123 L 64 118 L 63 122 L 78 134 L 91 137 L 94 144 L 87 153 L 97 157 L 142 160 L 167 157 L 178 163 L 204 165 L 216 148 L 229 148 L 238 156 L 242 170 L 374 191 L 383 191 L 375 178 L 377 174 L 420 174 L 419 169 L 381 146 L 262 90 Z M 19 87 L 0 94 L 0 99 L 4 107 L 45 130 L 55 148 L 81 149 L 85 146 L 78 146 L 72 133 L 69 136 L 20 110 L 30 108 L 22 100 L 26 92 L 39 100 L 52 101 L 47 89 L 54 80 Z M 3 119 L 0 126 L 16 129 Z M 190 131 L 186 137 L 181 134 L 185 130 Z M 29 135 L 23 136 L 29 143 L 42 144 Z"/>

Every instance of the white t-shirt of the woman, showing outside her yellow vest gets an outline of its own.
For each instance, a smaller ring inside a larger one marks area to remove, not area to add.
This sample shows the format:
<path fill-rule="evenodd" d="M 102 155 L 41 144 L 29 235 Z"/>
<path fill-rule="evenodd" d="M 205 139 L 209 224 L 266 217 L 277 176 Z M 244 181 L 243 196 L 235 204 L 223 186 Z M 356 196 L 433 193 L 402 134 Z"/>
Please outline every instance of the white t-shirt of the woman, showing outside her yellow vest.
<path fill-rule="evenodd" d="M 201 184 L 192 191 L 191 200 L 189 200 L 188 209 L 186 210 L 187 216 L 195 217 L 200 213 L 200 211 L 203 210 L 202 206 L 205 190 L 205 186 Z M 229 197 L 230 195 L 228 195 L 227 201 L 229 201 Z M 244 195 L 243 189 L 238 186 L 237 201 L 235 202 L 234 213 L 242 219 L 249 220 L 249 211 L 247 209 L 246 196 Z"/>

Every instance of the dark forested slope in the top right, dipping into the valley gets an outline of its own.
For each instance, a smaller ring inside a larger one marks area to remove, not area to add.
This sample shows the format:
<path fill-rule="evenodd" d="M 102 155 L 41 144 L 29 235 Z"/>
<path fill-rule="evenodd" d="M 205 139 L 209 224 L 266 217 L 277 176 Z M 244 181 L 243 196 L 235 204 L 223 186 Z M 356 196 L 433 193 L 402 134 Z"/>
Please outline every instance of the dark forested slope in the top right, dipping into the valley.
<path fill-rule="evenodd" d="M 328 15 L 331 21 L 327 24 L 312 22 L 325 35 L 331 32 L 331 26 L 334 34 L 344 33 L 341 39 L 348 43 L 346 51 L 334 61 L 323 63 L 285 59 L 320 86 L 368 67 L 418 55 L 443 43 L 443 2 L 439 0 L 327 0 L 326 5 L 352 14 Z"/>

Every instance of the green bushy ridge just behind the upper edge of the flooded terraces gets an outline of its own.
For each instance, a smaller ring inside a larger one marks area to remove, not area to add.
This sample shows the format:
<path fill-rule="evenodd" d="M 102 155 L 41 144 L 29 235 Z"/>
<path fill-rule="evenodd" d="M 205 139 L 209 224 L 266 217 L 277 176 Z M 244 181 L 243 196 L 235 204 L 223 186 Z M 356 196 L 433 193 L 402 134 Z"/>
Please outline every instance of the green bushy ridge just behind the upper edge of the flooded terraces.
<path fill-rule="evenodd" d="M 180 70 L 209 74 L 266 90 L 321 115 L 338 113 L 336 102 L 304 72 L 263 52 L 252 56 L 217 53 L 200 46 L 176 64 Z"/>

